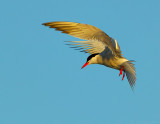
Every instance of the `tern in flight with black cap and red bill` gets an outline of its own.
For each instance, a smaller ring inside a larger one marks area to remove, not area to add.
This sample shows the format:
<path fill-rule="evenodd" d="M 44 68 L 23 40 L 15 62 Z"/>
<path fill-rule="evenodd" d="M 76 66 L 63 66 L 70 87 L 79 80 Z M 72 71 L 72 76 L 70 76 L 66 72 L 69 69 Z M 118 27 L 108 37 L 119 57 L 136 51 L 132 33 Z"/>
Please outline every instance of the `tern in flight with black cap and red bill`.
<path fill-rule="evenodd" d="M 69 41 L 69 45 L 74 46 L 73 48 L 90 54 L 82 68 L 90 64 L 101 64 L 117 69 L 120 71 L 119 76 L 123 75 L 122 80 L 126 75 L 131 88 L 134 88 L 136 72 L 133 61 L 122 56 L 117 41 L 105 32 L 92 25 L 75 22 L 58 21 L 43 23 L 43 25 L 85 40 Z"/>

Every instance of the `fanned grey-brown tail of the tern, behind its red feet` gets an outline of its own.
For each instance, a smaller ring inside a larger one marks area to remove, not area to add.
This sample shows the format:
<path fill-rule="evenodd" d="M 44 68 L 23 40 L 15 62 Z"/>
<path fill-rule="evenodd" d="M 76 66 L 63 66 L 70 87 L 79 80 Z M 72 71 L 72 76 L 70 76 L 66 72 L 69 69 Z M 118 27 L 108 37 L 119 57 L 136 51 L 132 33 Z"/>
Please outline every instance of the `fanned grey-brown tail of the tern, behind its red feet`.
<path fill-rule="evenodd" d="M 132 89 L 134 89 L 135 83 L 136 83 L 136 71 L 133 61 L 127 61 L 123 63 L 124 70 L 126 72 L 126 76 L 128 79 L 128 82 Z"/>

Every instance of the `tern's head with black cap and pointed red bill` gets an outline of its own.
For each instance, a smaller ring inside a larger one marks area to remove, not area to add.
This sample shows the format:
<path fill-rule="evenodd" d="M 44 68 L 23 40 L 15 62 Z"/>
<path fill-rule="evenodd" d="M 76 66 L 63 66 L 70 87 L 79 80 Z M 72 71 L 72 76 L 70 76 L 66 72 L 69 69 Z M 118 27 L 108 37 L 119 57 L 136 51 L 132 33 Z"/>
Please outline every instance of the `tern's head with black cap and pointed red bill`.
<path fill-rule="evenodd" d="M 99 55 L 99 53 L 95 53 L 95 54 L 91 54 L 88 58 L 86 63 L 82 66 L 82 68 L 86 67 L 87 65 L 90 64 L 97 64 L 97 55 Z M 82 69 L 81 68 L 81 69 Z"/>

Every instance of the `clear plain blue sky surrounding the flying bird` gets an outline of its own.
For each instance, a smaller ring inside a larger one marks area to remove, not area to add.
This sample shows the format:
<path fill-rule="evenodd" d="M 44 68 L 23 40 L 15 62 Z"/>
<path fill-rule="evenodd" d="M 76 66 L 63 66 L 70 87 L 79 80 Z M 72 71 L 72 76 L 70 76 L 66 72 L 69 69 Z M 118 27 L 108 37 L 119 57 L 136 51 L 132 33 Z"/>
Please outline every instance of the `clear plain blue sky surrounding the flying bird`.
<path fill-rule="evenodd" d="M 3 0 L 0 124 L 160 124 L 160 0 Z M 132 92 L 119 71 L 81 70 L 79 40 L 41 25 L 72 21 L 115 38 L 136 61 Z"/>

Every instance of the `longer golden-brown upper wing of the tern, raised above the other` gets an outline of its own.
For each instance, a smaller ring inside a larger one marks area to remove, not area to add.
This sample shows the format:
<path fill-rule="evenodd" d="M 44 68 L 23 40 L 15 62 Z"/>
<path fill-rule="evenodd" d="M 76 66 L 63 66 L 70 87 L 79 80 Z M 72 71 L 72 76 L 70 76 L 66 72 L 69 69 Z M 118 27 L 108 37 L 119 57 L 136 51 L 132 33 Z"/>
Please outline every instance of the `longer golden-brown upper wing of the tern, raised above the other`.
<path fill-rule="evenodd" d="M 88 40 L 89 42 L 102 42 L 115 56 L 121 56 L 121 51 L 114 47 L 112 39 L 102 30 L 92 25 L 75 22 L 48 22 L 43 25 L 55 28 L 56 30 L 62 31 L 62 33 Z"/>

